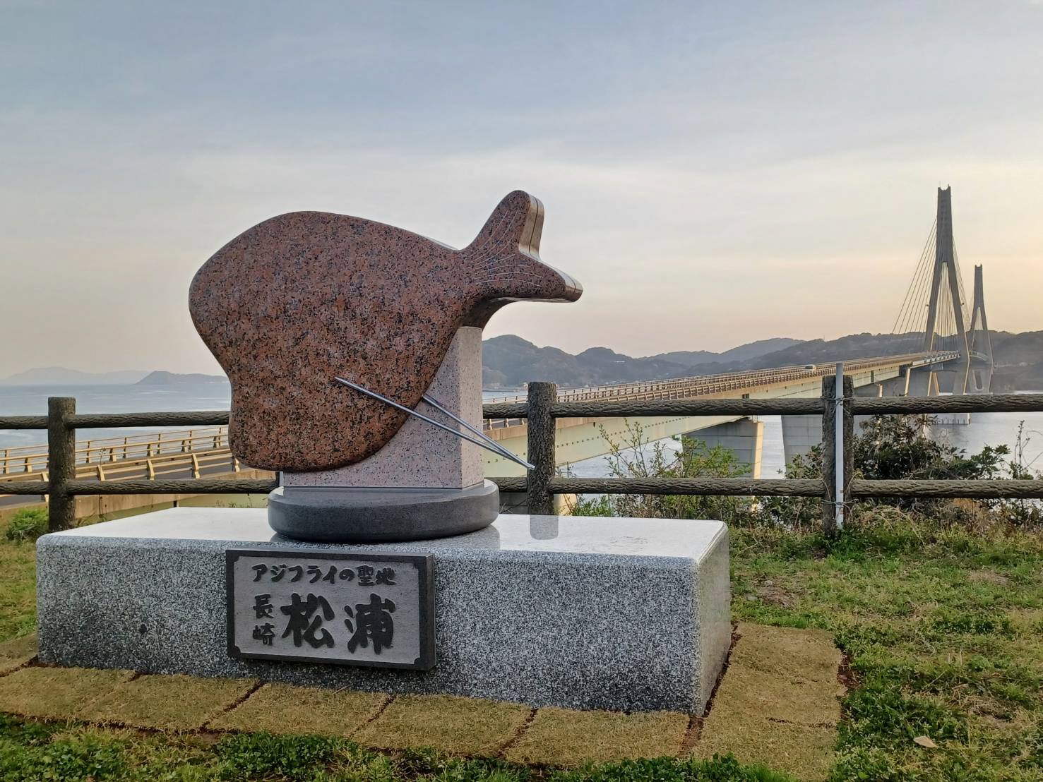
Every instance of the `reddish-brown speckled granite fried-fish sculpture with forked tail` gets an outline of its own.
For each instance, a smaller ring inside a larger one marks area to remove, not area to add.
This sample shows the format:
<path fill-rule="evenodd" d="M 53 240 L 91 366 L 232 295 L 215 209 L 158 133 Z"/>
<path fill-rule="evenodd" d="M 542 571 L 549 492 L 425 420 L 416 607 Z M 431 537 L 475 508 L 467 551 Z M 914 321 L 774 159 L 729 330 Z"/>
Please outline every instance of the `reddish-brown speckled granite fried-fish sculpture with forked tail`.
<path fill-rule="evenodd" d="M 294 212 L 239 235 L 196 273 L 189 308 L 232 382 L 228 438 L 246 464 L 320 470 L 380 450 L 461 326 L 509 301 L 575 301 L 582 288 L 539 259 L 543 205 L 504 198 L 457 250 L 347 215 Z"/>

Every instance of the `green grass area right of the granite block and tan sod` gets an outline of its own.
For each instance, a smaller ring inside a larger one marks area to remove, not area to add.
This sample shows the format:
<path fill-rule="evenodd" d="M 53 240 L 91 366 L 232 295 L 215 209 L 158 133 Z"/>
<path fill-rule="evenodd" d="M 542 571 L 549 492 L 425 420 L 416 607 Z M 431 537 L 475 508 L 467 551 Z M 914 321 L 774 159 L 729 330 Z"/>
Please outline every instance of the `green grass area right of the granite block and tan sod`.
<path fill-rule="evenodd" d="M 747 531 L 732 595 L 733 618 L 823 628 L 846 653 L 833 779 L 1043 780 L 1039 535 Z"/>

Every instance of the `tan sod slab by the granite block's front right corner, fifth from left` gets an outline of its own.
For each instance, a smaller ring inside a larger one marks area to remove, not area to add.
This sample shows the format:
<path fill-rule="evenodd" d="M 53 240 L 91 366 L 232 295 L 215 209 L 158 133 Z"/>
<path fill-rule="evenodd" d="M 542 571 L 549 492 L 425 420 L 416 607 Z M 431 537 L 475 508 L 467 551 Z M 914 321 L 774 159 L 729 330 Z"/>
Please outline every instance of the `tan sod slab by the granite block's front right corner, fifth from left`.
<path fill-rule="evenodd" d="M 676 711 L 622 714 L 544 707 L 507 751 L 507 759 L 535 765 L 580 765 L 625 758 L 677 755 L 688 715 Z"/>

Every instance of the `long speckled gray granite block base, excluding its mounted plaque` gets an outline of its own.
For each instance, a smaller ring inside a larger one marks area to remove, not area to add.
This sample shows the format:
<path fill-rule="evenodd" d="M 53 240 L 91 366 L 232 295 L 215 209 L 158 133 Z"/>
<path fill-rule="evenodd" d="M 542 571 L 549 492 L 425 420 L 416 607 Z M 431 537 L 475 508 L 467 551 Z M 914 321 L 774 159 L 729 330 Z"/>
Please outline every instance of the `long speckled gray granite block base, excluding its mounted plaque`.
<path fill-rule="evenodd" d="M 437 662 L 396 670 L 234 659 L 225 549 L 434 555 Z M 40 658 L 532 706 L 701 712 L 731 638 L 719 521 L 504 515 L 410 543 L 304 543 L 263 509 L 174 508 L 45 535 Z"/>

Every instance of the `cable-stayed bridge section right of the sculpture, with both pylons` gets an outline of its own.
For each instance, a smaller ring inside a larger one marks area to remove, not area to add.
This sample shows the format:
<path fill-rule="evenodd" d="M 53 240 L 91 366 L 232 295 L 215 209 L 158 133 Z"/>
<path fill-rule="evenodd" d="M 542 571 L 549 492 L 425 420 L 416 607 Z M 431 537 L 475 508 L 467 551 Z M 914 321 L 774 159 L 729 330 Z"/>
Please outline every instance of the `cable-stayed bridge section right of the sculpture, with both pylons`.
<path fill-rule="evenodd" d="M 969 306 L 968 306 L 969 304 Z M 981 267 L 974 267 L 973 298 L 964 293 L 963 273 L 952 233 L 952 191 L 938 189 L 938 211 L 913 279 L 902 298 L 892 334 L 901 351 L 894 356 L 836 361 L 854 381 L 860 396 L 929 396 L 938 393 L 987 393 L 991 390 L 993 357 L 986 317 Z M 835 363 L 778 367 L 755 372 L 703 375 L 626 386 L 604 386 L 561 392 L 561 398 L 690 399 L 696 397 L 778 398 L 819 396 L 822 377 L 835 372 Z M 523 397 L 516 397 L 518 401 Z M 969 414 L 941 418 L 966 423 Z M 491 436 L 508 449 L 526 448 L 525 420 L 491 421 Z M 628 439 L 625 418 L 560 419 L 556 447 L 558 462 L 601 456 L 609 448 L 605 435 L 616 443 Z M 724 445 L 759 476 L 762 424 L 752 418 L 677 417 L 641 420 L 649 440 L 690 435 L 709 445 Z M 803 455 L 821 440 L 819 416 L 782 418 L 786 461 Z M 489 456 L 487 474 L 514 474 L 506 460 Z"/>

